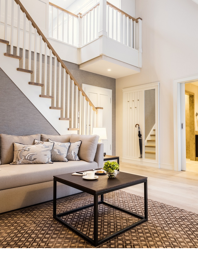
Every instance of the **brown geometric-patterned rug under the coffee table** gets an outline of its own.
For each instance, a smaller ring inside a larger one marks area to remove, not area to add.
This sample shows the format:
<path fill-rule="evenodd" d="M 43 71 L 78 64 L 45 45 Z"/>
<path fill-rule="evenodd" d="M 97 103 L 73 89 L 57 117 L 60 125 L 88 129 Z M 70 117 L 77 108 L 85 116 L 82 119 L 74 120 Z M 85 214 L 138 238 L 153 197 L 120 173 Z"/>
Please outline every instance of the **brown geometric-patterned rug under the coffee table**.
<path fill-rule="evenodd" d="M 143 198 L 125 191 L 104 195 L 105 201 L 143 214 Z M 57 200 L 57 211 L 93 202 L 87 193 Z M 0 216 L 0 248 L 94 248 L 80 236 L 52 218 L 53 202 L 38 204 Z M 137 218 L 103 204 L 98 208 L 100 238 L 137 221 Z M 64 217 L 93 238 L 93 207 Z M 198 214 L 148 200 L 145 222 L 97 248 L 197 248 Z"/>

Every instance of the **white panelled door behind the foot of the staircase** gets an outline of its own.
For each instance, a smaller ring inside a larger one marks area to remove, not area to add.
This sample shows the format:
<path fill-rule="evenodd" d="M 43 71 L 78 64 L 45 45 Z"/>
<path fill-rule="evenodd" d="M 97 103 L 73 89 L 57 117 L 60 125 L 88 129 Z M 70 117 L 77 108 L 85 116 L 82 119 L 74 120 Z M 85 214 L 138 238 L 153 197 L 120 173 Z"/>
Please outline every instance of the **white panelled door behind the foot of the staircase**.
<path fill-rule="evenodd" d="M 82 84 L 83 90 L 95 107 L 103 107 L 102 126 L 107 130 L 107 140 L 103 140 L 104 152 L 112 155 L 112 90 Z"/>

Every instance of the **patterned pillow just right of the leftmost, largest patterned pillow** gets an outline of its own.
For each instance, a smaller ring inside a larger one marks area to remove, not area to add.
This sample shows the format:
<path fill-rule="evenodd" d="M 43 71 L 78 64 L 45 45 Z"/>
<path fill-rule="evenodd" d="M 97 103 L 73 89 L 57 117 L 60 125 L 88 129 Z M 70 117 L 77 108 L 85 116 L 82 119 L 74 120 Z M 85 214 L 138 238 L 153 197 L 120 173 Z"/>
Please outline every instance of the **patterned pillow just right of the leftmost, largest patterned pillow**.
<path fill-rule="evenodd" d="M 63 161 L 68 162 L 67 153 L 70 146 L 70 142 L 62 143 L 48 139 L 49 142 L 53 142 L 54 146 L 52 149 L 52 161 Z"/>

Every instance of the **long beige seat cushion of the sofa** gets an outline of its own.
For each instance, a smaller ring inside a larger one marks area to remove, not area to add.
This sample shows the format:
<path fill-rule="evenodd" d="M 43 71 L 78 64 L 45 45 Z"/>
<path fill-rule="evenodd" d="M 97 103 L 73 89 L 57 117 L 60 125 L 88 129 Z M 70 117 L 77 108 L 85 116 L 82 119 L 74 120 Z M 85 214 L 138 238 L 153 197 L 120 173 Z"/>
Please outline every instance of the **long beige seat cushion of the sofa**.
<path fill-rule="evenodd" d="M 96 169 L 97 162 L 68 161 L 37 165 L 1 165 L 0 190 L 53 180 L 53 175 Z M 82 178 L 83 180 L 83 178 Z M 40 191 L 42 193 L 42 191 Z"/>

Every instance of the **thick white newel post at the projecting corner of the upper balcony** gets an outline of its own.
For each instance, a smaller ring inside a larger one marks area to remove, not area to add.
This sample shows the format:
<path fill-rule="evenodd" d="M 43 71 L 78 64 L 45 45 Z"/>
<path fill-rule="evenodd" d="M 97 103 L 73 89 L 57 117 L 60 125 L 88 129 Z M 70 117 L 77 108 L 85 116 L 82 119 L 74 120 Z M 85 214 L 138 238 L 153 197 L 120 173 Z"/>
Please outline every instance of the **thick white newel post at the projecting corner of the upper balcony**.
<path fill-rule="evenodd" d="M 107 0 L 100 0 L 98 37 L 107 36 Z"/>

